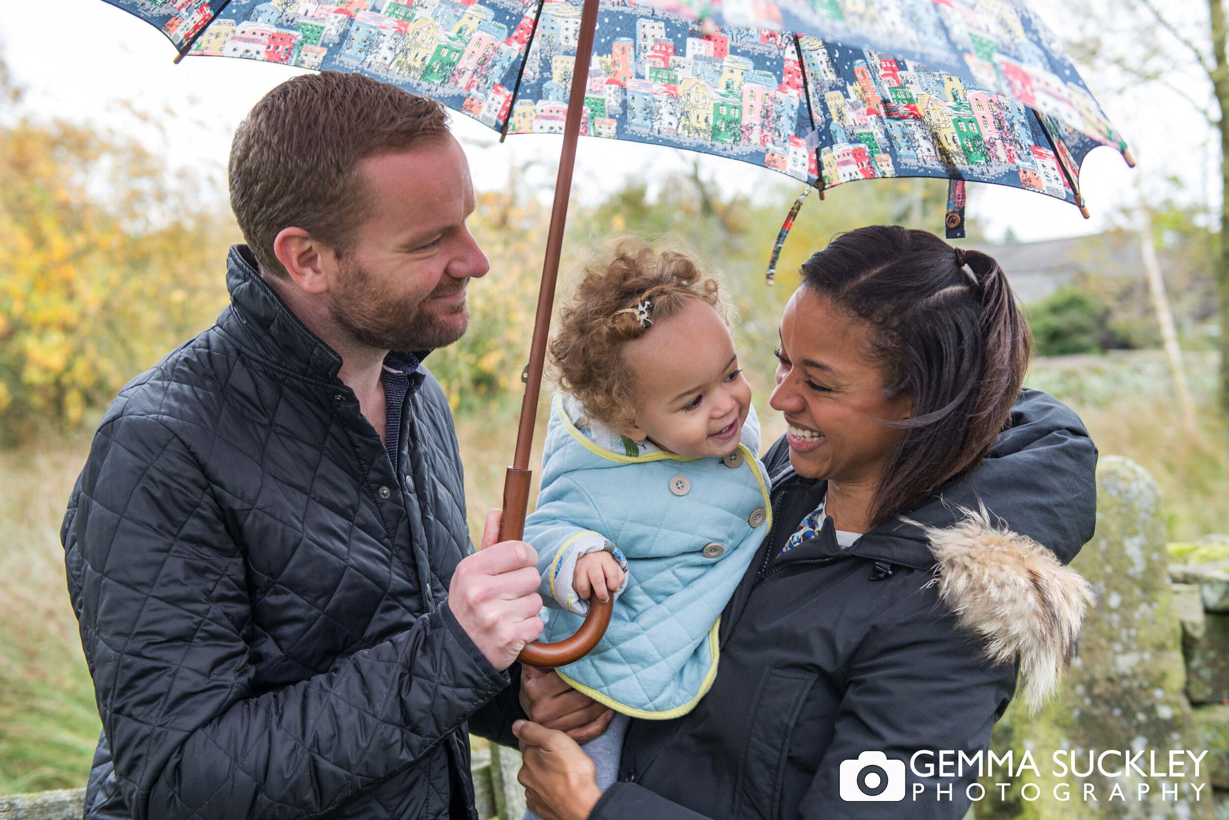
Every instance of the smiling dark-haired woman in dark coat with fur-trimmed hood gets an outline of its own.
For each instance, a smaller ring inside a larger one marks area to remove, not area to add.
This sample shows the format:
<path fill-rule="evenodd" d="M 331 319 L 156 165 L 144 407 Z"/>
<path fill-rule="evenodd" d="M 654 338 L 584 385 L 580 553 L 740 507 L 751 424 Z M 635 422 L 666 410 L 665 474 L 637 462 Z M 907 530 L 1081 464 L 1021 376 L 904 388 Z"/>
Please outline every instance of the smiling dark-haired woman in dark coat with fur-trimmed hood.
<path fill-rule="evenodd" d="M 1090 597 L 1062 562 L 1093 535 L 1096 449 L 1020 389 L 1029 350 L 983 253 L 878 226 L 811 257 L 769 400 L 789 425 L 764 458 L 775 523 L 723 614 L 713 689 L 633 722 L 605 794 L 568 735 L 519 723 L 530 808 L 960 818 L 978 772 L 959 752 L 989 745 L 1018 689 L 1030 706 L 1053 689 Z M 941 750 L 951 766 L 928 770 Z"/>

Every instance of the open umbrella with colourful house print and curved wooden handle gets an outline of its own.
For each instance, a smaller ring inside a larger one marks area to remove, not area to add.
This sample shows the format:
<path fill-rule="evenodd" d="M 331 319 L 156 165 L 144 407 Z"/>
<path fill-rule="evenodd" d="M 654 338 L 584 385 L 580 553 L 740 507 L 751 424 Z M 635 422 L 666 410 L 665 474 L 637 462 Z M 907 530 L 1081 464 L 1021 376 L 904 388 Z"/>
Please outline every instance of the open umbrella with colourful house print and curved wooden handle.
<path fill-rule="evenodd" d="M 530 447 L 576 137 L 687 149 L 812 190 L 859 179 L 965 180 L 1082 210 L 1079 167 L 1107 145 L 1132 162 L 1074 65 L 1021 0 L 107 0 L 184 55 L 356 71 L 508 134 L 564 136 L 501 535 L 520 538 Z M 1086 215 L 1086 211 L 1085 211 Z M 522 660 L 579 658 L 605 630 Z M 590 626 L 590 622 L 594 625 Z M 584 635 L 583 635 L 584 633 Z M 571 641 L 571 640 L 569 640 Z M 567 643 L 567 642 L 565 642 Z M 579 644 L 579 646 L 576 646 Z"/>

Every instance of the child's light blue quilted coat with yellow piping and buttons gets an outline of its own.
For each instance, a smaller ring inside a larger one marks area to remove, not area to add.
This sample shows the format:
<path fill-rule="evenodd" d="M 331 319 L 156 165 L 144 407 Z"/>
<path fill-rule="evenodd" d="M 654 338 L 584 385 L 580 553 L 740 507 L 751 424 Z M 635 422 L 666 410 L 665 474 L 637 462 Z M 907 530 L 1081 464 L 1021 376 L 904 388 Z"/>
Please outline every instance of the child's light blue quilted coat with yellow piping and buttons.
<path fill-rule="evenodd" d="M 633 717 L 666 719 L 694 708 L 717 675 L 718 619 L 772 525 L 758 449 L 752 409 L 739 451 L 725 459 L 617 454 L 590 441 L 556 396 L 525 540 L 542 572 L 589 533 L 606 536 L 628 561 L 606 637 L 559 670 L 564 680 Z M 560 641 L 583 620 L 552 609 L 538 640 Z"/>

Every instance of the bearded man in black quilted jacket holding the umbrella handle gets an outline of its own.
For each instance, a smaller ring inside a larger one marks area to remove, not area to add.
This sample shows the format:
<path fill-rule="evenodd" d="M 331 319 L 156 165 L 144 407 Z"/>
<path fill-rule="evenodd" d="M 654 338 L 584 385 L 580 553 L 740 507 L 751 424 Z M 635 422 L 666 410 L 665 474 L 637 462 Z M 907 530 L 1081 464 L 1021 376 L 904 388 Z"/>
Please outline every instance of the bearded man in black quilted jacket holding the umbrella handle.
<path fill-rule="evenodd" d="M 498 511 L 472 554 L 420 366 L 489 268 L 465 155 L 436 103 L 326 72 L 252 109 L 230 188 L 231 306 L 119 393 L 64 519 L 86 818 L 477 818 L 467 722 L 515 743 L 542 624 Z"/>

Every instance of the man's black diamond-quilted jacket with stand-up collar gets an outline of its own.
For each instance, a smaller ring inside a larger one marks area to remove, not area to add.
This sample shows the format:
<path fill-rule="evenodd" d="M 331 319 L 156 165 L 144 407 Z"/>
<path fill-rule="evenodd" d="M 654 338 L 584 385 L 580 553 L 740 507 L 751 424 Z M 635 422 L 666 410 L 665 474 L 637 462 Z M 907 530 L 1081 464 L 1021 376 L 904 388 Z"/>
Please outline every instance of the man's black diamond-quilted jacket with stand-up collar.
<path fill-rule="evenodd" d="M 410 377 L 395 474 L 242 246 L 227 286 L 119 393 L 64 519 L 86 816 L 476 818 L 466 721 L 506 741 L 520 714 L 442 605 L 472 550 L 444 393 Z"/>

